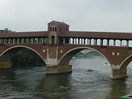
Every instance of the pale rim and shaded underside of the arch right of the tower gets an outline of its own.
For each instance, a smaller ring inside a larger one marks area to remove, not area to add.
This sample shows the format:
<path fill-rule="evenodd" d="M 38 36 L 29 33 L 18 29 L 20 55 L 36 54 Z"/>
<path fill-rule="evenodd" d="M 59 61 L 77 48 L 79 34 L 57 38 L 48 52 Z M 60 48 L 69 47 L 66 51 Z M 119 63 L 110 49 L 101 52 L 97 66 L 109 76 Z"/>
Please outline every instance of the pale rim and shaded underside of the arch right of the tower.
<path fill-rule="evenodd" d="M 91 47 L 76 47 L 76 48 L 73 48 L 73 49 L 67 51 L 60 58 L 60 61 L 58 62 L 58 64 L 59 65 L 69 65 L 69 62 L 72 59 L 72 57 L 75 56 L 78 52 L 80 52 L 80 51 L 82 51 L 84 49 L 98 52 L 101 56 L 103 56 L 107 60 L 108 64 L 110 64 L 109 60 L 107 59 L 107 57 L 103 53 L 101 53 L 100 51 L 98 51 L 98 50 L 96 50 L 94 48 L 91 48 Z"/>

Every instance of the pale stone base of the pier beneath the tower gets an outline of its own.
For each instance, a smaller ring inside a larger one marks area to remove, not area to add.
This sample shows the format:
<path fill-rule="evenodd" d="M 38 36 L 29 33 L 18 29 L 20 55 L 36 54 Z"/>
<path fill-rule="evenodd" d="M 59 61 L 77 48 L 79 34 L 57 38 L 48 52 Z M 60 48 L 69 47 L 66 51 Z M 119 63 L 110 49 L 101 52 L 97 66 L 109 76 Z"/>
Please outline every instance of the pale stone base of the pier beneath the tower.
<path fill-rule="evenodd" d="M 64 73 L 71 73 L 71 72 L 72 72 L 71 65 L 46 66 L 46 74 L 64 74 Z"/>

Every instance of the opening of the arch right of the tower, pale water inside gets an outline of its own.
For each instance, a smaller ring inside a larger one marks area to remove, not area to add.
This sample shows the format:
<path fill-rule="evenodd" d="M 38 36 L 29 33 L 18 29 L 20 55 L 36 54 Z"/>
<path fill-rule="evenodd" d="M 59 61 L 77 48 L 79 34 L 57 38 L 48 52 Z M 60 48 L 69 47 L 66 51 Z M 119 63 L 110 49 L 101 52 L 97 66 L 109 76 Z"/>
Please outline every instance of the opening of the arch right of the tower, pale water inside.
<path fill-rule="evenodd" d="M 59 65 L 72 65 L 87 70 L 110 72 L 111 66 L 108 59 L 99 51 L 92 48 L 75 48 L 67 52 Z"/>

